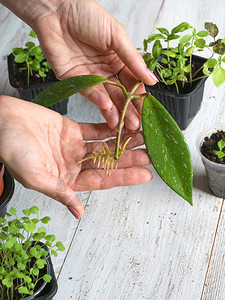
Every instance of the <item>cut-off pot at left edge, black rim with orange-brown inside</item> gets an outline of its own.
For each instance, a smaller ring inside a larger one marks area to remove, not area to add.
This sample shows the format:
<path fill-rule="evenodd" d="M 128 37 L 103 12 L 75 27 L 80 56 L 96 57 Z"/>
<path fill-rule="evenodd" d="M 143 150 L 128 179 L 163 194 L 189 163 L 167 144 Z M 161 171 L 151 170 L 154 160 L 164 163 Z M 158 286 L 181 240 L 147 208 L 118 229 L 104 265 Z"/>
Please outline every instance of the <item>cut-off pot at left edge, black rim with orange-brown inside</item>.
<path fill-rule="evenodd" d="M 14 179 L 4 164 L 0 162 L 0 217 L 5 216 L 7 205 L 14 193 L 14 187 Z"/>

